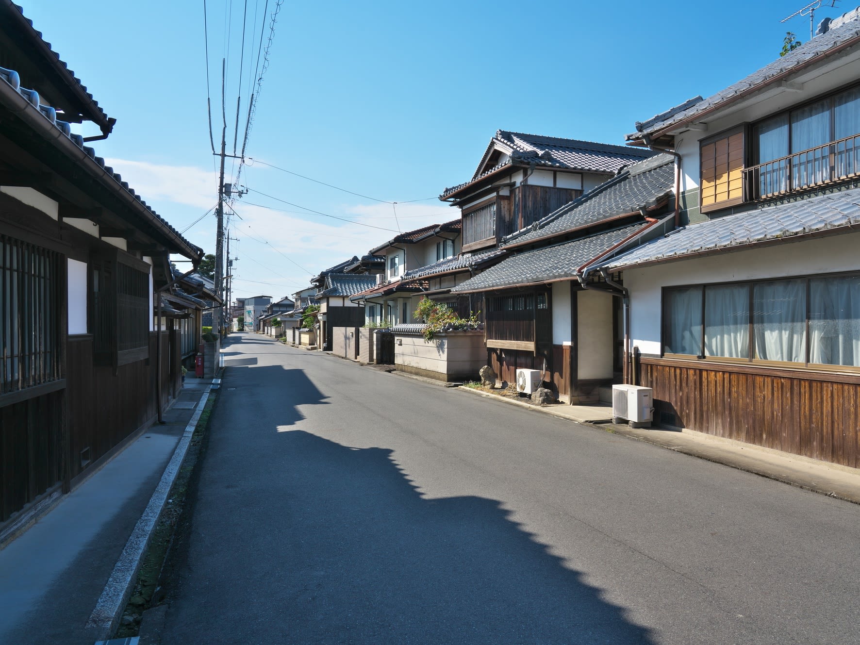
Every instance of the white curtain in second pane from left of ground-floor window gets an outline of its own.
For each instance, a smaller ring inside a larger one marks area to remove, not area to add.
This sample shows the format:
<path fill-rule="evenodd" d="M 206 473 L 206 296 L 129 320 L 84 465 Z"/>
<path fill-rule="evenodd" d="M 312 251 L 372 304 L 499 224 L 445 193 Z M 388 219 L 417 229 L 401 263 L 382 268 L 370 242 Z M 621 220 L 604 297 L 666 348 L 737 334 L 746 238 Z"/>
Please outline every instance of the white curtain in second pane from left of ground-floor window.
<path fill-rule="evenodd" d="M 704 353 L 749 358 L 749 286 L 707 286 L 704 290 Z"/>

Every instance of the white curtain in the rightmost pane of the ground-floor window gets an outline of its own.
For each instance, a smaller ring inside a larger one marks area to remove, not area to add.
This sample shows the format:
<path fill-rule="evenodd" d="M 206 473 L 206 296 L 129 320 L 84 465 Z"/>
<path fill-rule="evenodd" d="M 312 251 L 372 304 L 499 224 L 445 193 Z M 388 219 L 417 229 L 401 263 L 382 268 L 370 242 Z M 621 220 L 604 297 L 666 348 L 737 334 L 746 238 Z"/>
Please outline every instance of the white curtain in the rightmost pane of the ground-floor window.
<path fill-rule="evenodd" d="M 809 281 L 809 362 L 860 366 L 860 277 Z"/>

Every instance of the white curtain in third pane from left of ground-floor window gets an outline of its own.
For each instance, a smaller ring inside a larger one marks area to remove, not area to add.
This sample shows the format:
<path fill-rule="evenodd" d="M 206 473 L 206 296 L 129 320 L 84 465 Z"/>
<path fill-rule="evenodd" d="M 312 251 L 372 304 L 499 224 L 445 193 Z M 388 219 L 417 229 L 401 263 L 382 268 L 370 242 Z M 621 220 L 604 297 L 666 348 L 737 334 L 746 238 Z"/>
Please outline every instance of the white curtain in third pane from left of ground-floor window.
<path fill-rule="evenodd" d="M 755 358 L 806 362 L 806 280 L 753 287 Z"/>

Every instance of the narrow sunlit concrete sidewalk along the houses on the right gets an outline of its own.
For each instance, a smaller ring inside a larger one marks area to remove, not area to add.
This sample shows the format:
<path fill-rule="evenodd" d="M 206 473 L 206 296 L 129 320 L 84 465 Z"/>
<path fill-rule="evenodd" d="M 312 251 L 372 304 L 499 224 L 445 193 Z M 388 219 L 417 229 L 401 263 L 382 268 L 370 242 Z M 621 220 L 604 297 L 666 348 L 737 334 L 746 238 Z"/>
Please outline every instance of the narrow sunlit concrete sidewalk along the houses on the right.
<path fill-rule="evenodd" d="M 818 459 L 745 444 L 734 441 L 734 439 L 723 439 L 694 430 L 632 428 L 627 425 L 602 422 L 611 419 L 611 406 L 608 404 L 596 406 L 557 404 L 538 407 L 504 396 L 489 394 L 482 390 L 473 390 L 467 387 L 457 389 L 476 396 L 485 396 L 512 405 L 519 405 L 535 410 L 539 414 L 553 415 L 604 431 L 622 434 L 631 439 L 647 441 L 649 444 L 661 445 L 669 450 L 683 452 L 685 455 L 707 459 L 778 482 L 806 488 L 814 493 L 826 494 L 829 497 L 860 504 L 860 470 L 854 468 L 828 464 Z"/>

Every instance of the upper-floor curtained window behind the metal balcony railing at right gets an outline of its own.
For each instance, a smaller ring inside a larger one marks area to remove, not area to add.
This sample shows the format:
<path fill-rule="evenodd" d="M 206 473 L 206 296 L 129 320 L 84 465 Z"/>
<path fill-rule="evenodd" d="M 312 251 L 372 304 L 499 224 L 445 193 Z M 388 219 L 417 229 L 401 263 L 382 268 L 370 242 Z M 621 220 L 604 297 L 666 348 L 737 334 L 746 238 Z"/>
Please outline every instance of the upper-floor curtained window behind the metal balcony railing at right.
<path fill-rule="evenodd" d="M 845 179 L 860 172 L 860 88 L 777 114 L 753 126 L 747 169 L 754 198 Z"/>

